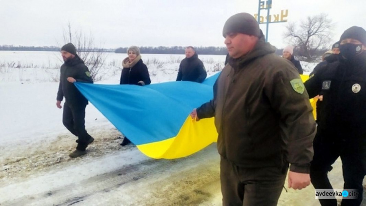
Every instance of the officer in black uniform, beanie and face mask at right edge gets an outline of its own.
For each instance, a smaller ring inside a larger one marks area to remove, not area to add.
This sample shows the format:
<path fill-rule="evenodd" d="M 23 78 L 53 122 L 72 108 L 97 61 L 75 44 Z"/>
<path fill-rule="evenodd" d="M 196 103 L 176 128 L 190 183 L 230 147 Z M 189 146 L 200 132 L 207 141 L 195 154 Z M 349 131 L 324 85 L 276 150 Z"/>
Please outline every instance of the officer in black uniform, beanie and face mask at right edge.
<path fill-rule="evenodd" d="M 310 98 L 323 95 L 310 177 L 316 189 L 332 189 L 327 173 L 340 157 L 344 188 L 358 195 L 356 199 L 344 197 L 342 206 L 359 206 L 366 175 L 365 29 L 348 28 L 340 38 L 339 49 L 339 61 L 327 64 L 305 82 Z M 337 206 L 335 198 L 319 201 L 322 206 Z"/>

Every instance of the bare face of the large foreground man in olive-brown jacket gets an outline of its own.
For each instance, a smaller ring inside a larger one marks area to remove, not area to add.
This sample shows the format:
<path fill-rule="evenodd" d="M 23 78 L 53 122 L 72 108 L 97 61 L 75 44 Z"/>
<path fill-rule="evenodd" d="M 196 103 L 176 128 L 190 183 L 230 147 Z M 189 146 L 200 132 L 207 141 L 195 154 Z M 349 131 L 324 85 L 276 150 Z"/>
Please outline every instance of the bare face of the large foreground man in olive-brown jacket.
<path fill-rule="evenodd" d="M 242 33 L 226 34 L 224 43 L 230 57 L 237 59 L 249 53 L 258 41 L 258 37 Z"/>

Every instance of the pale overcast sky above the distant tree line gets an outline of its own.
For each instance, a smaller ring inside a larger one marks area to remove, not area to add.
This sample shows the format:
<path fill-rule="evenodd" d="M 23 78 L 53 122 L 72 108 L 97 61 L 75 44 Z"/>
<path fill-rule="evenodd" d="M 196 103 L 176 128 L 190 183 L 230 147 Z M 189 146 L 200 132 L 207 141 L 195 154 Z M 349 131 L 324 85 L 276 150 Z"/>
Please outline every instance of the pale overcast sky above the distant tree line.
<path fill-rule="evenodd" d="M 272 2 L 271 14 L 288 9 L 289 22 L 328 14 L 335 23 L 334 42 L 350 26 L 366 29 L 366 0 Z M 258 0 L 0 0 L 0 45 L 58 45 L 70 22 L 104 48 L 224 46 L 224 22 L 239 12 L 258 13 Z M 286 45 L 286 25 L 269 24 L 268 41 L 278 48 Z M 265 34 L 264 24 L 261 29 Z"/>

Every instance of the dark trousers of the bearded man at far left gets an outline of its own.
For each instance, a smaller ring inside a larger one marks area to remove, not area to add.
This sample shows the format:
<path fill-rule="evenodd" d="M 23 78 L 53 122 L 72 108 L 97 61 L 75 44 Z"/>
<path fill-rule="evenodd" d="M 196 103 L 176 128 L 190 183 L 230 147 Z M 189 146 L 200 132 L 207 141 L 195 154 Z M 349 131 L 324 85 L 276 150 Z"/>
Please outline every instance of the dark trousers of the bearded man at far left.
<path fill-rule="evenodd" d="M 85 151 L 87 142 L 91 136 L 85 130 L 85 107 L 86 104 L 68 105 L 63 104 L 62 123 L 75 136 L 78 137 L 76 149 Z"/>

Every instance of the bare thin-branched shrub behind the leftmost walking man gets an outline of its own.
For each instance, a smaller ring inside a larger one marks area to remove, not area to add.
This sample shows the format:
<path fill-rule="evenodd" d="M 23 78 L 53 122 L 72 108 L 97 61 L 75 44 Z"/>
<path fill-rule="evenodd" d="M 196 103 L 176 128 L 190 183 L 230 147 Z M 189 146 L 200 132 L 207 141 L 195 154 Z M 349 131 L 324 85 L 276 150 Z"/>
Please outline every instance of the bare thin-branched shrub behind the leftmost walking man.
<path fill-rule="evenodd" d="M 93 81 L 102 79 L 101 69 L 106 57 L 103 53 L 104 49 L 95 47 L 94 37 L 91 33 L 86 36 L 81 30 L 73 32 L 69 22 L 67 29 L 63 29 L 63 42 L 64 44 L 71 42 L 75 45 L 78 56 L 89 68 Z"/>

